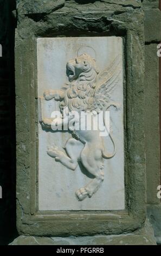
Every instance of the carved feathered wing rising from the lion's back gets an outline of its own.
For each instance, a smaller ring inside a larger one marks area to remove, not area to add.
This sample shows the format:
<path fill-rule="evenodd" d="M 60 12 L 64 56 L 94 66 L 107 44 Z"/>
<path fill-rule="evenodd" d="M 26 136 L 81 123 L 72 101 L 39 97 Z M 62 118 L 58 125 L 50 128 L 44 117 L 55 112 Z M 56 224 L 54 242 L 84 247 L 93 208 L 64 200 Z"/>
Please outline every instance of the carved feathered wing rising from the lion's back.
<path fill-rule="evenodd" d="M 121 72 L 121 55 L 117 56 L 110 68 L 98 76 L 92 110 L 106 110 L 111 100 L 111 93 L 117 86 Z"/>

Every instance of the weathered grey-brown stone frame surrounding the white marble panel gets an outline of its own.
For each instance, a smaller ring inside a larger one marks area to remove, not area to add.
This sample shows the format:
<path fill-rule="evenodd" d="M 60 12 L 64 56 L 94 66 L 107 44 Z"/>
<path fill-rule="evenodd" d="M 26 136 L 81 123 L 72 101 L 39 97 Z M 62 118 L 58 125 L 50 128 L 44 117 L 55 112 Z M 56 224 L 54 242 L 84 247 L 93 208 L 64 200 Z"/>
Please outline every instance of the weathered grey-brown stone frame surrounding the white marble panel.
<path fill-rule="evenodd" d="M 36 39 L 101 35 L 124 38 L 126 210 L 38 212 Z M 143 227 L 146 218 L 143 11 L 126 9 L 123 13 L 118 10 L 118 14 L 112 8 L 103 12 L 57 11 L 47 15 L 44 22 L 22 19 L 16 31 L 15 56 L 18 233 L 35 236 L 110 235 Z"/>

